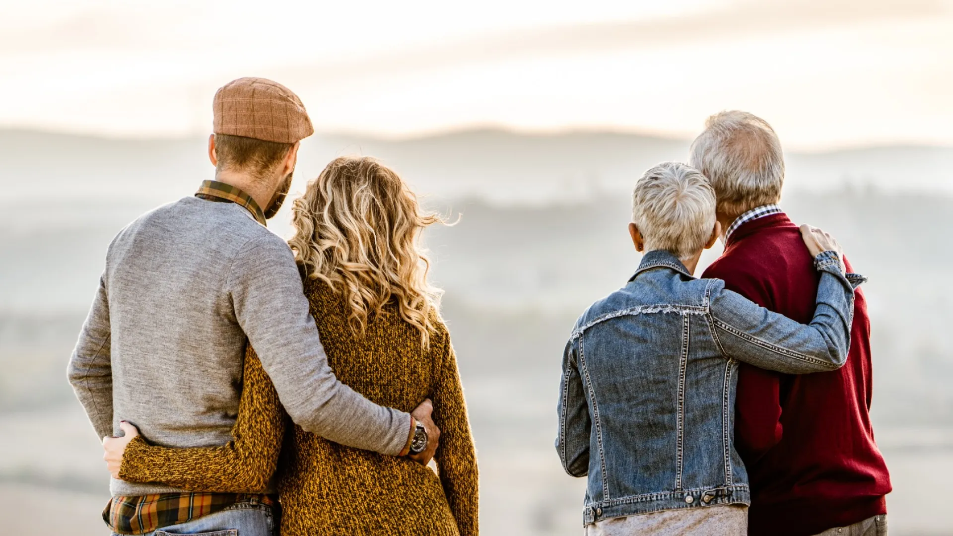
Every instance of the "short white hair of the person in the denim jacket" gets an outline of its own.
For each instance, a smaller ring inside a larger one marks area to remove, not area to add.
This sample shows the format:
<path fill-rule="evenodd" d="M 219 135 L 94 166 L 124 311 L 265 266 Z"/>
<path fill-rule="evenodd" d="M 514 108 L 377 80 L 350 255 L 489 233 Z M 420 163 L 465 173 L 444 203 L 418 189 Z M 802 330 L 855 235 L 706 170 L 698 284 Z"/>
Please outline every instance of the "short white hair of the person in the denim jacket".
<path fill-rule="evenodd" d="M 715 228 L 715 191 L 695 168 L 662 162 L 636 183 L 632 221 L 639 227 L 645 251 L 666 250 L 680 260 L 692 258 Z"/>

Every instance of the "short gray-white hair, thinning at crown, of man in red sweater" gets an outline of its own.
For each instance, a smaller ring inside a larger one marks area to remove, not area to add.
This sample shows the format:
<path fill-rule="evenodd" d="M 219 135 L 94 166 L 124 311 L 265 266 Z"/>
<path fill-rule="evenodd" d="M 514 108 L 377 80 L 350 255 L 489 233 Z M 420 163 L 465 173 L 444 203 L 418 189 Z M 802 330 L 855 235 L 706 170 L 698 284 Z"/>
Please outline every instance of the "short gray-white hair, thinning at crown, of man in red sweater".
<path fill-rule="evenodd" d="M 708 117 L 704 132 L 692 142 L 688 163 L 711 181 L 720 213 L 740 216 L 781 199 L 781 140 L 767 121 L 753 113 Z"/>

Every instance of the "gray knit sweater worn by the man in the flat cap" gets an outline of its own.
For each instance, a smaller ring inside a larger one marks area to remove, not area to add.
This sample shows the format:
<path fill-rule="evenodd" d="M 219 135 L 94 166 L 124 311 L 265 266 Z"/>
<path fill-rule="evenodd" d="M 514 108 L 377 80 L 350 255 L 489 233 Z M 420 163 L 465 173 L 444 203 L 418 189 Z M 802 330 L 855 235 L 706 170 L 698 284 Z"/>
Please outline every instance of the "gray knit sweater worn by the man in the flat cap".
<path fill-rule="evenodd" d="M 251 343 L 295 423 L 396 455 L 410 415 L 335 378 L 288 244 L 233 203 L 186 197 L 112 240 L 69 377 L 99 437 L 118 423 L 175 447 L 228 443 Z M 181 491 L 113 481 L 113 495 Z"/>

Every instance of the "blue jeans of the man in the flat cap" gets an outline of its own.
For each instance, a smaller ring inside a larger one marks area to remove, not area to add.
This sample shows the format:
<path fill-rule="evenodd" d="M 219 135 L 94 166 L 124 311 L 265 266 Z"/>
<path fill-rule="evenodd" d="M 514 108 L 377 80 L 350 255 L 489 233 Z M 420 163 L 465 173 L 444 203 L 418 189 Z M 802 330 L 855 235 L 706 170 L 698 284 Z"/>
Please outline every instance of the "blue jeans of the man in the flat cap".
<path fill-rule="evenodd" d="M 144 536 L 273 536 L 274 512 L 260 503 L 237 503 L 222 511 L 173 526 L 163 526 Z M 113 536 L 117 536 L 113 534 Z"/>

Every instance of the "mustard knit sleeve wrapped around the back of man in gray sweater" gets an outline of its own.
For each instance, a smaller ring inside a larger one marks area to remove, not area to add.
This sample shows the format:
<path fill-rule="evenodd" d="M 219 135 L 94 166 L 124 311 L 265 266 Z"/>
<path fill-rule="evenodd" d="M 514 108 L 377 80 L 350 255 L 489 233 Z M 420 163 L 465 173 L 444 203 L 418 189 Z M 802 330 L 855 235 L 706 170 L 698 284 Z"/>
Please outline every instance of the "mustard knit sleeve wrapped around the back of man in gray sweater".
<path fill-rule="evenodd" d="M 274 475 L 284 432 L 285 414 L 274 385 L 249 348 L 233 441 L 215 447 L 170 448 L 137 436 L 123 453 L 119 478 L 190 491 L 262 492 Z"/>

